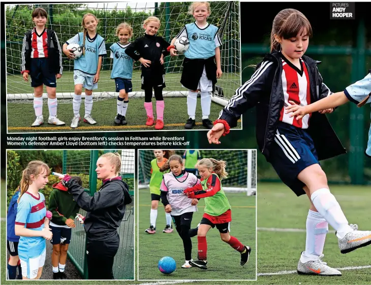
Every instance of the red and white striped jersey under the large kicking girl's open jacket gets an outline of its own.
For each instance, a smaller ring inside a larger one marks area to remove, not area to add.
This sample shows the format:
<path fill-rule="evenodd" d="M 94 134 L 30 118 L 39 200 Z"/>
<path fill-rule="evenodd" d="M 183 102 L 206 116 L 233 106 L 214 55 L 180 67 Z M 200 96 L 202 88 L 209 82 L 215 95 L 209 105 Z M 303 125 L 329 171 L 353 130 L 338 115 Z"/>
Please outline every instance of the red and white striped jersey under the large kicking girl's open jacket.
<path fill-rule="evenodd" d="M 285 113 L 285 107 L 294 101 L 297 105 L 305 106 L 311 104 L 311 90 L 308 71 L 304 61 L 300 58 L 301 70 L 295 67 L 290 61 L 282 59 L 282 88 L 284 91 L 285 104 L 280 113 L 280 121 L 296 126 L 300 129 L 307 129 L 312 114 L 306 114 L 303 118 L 296 120 Z"/>

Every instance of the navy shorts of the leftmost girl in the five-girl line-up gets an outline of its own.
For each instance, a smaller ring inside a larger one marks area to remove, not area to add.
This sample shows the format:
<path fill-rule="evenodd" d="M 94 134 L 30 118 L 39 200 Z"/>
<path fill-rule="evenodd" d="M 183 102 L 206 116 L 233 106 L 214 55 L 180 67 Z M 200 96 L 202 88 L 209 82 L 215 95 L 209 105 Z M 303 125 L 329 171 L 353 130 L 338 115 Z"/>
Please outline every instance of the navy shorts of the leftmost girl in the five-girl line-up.
<path fill-rule="evenodd" d="M 32 87 L 38 87 L 43 84 L 49 87 L 57 86 L 55 74 L 52 74 L 49 71 L 48 58 L 31 58 L 31 70 L 29 75 L 31 76 Z"/>

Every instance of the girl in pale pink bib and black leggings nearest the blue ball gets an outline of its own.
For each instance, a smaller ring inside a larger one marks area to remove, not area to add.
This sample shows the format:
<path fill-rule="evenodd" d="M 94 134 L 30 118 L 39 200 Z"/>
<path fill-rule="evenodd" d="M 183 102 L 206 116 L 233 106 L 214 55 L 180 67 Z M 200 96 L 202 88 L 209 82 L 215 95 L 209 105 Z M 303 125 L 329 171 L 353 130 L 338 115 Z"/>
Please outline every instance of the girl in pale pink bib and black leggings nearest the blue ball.
<path fill-rule="evenodd" d="M 181 267 L 191 268 L 192 240 L 189 232 L 193 212 L 197 211 L 198 200 L 188 199 L 183 195 L 183 190 L 197 184 L 199 179 L 194 174 L 183 171 L 183 166 L 183 159 L 180 155 L 171 155 L 160 169 L 162 172 L 171 170 L 170 173 L 164 174 L 160 189 L 165 211 L 171 214 L 176 231 L 183 241 L 185 262 Z"/>

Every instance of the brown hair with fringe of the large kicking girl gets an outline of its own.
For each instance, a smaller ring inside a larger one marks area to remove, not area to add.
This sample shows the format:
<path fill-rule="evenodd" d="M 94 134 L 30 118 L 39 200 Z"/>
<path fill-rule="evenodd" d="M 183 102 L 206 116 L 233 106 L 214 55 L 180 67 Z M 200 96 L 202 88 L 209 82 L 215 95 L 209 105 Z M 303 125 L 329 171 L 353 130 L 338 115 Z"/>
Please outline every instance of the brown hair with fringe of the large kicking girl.
<path fill-rule="evenodd" d="M 275 40 L 275 37 L 285 40 L 295 38 L 299 33 L 304 33 L 304 29 L 307 31 L 307 36 L 312 37 L 311 23 L 303 13 L 295 9 L 280 11 L 273 20 L 270 33 L 270 52 L 281 49 L 281 44 Z"/>

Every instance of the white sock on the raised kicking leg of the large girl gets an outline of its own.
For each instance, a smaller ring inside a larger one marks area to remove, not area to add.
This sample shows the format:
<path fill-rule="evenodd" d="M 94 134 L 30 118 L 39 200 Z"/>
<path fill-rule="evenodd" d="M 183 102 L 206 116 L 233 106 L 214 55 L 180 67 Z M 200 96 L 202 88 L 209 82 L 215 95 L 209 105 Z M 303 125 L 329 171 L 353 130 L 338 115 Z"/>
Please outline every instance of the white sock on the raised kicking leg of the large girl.
<path fill-rule="evenodd" d="M 342 208 L 336 201 L 335 196 L 330 193 L 327 188 L 321 188 L 315 191 L 311 196 L 312 202 L 317 211 L 336 231 L 336 236 L 343 239 L 346 234 L 353 231 L 348 225 L 348 220 L 345 217 Z"/>

